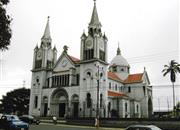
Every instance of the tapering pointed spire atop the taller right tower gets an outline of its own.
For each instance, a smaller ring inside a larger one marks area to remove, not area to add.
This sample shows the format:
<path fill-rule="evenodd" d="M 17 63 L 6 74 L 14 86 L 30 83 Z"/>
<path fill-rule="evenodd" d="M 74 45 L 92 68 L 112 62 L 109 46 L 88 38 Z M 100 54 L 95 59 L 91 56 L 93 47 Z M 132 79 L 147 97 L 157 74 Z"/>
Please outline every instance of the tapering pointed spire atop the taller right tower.
<path fill-rule="evenodd" d="M 89 23 L 90 27 L 101 27 L 101 23 L 99 21 L 99 17 L 98 17 L 98 13 L 97 13 L 97 9 L 96 9 L 96 0 L 94 0 L 94 8 L 93 8 L 93 12 L 92 12 L 92 16 L 91 16 L 91 21 Z"/>

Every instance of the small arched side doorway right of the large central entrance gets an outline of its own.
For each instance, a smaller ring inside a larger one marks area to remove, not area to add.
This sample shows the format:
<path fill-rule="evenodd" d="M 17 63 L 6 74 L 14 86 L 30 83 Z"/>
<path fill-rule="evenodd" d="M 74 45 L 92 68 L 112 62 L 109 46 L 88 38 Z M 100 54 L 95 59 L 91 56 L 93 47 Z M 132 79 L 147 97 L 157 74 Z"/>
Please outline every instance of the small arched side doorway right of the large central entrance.
<path fill-rule="evenodd" d="M 74 94 L 71 98 L 72 102 L 72 116 L 77 118 L 79 115 L 79 96 Z"/>

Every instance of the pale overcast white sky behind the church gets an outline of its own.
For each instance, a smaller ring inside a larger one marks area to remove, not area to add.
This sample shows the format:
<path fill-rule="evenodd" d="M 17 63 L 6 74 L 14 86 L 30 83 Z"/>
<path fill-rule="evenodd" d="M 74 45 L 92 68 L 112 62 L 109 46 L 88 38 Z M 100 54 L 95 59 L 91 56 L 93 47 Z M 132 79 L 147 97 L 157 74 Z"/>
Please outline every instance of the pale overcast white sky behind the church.
<path fill-rule="evenodd" d="M 169 75 L 162 69 L 170 60 L 179 62 L 178 0 L 97 0 L 102 31 L 108 37 L 108 62 L 121 54 L 130 64 L 131 73 L 146 68 L 153 89 L 155 109 L 172 106 Z M 12 39 L 8 51 L 0 54 L 0 98 L 19 87 L 30 88 L 33 50 L 50 16 L 52 45 L 58 56 L 63 46 L 80 57 L 80 37 L 87 33 L 93 0 L 10 0 L 8 14 L 13 18 Z M 180 100 L 179 76 L 175 83 L 176 100 Z"/>

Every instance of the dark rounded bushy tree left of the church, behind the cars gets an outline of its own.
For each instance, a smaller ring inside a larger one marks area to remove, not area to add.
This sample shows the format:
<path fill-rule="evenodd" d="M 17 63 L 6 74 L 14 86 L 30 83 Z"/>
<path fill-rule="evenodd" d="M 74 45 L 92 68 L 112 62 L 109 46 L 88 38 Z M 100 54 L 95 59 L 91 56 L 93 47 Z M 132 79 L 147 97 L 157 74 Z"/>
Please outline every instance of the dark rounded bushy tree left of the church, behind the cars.
<path fill-rule="evenodd" d="M 8 92 L 0 100 L 0 113 L 28 114 L 30 89 L 19 88 Z"/>

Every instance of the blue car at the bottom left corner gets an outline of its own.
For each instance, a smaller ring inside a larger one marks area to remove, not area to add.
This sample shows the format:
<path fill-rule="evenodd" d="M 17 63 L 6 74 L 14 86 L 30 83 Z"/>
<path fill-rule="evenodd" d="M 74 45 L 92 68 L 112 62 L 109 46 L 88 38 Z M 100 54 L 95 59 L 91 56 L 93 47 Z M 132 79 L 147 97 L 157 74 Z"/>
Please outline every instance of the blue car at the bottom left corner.
<path fill-rule="evenodd" d="M 29 130 L 29 124 L 19 120 L 16 115 L 3 115 L 0 119 L 0 129 Z"/>

